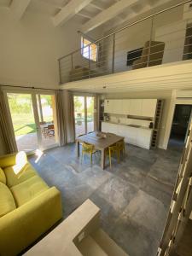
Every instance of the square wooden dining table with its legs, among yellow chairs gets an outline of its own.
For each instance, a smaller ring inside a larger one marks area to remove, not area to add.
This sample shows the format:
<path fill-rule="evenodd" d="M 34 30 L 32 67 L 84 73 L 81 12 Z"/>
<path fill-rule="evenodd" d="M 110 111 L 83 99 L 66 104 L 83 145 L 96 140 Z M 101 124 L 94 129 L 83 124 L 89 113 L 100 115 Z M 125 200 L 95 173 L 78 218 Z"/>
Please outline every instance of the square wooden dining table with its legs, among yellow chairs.
<path fill-rule="evenodd" d="M 124 140 L 124 137 L 120 137 L 113 133 L 102 132 L 102 137 L 98 136 L 101 132 L 94 131 L 82 136 L 77 137 L 76 139 L 76 147 L 78 157 L 80 155 L 80 143 L 89 143 L 94 145 L 96 150 L 100 150 L 102 152 L 101 166 L 102 169 L 105 169 L 105 151 L 109 146 L 112 146 L 114 143 L 119 143 Z M 104 136 L 104 137 L 103 137 Z"/>

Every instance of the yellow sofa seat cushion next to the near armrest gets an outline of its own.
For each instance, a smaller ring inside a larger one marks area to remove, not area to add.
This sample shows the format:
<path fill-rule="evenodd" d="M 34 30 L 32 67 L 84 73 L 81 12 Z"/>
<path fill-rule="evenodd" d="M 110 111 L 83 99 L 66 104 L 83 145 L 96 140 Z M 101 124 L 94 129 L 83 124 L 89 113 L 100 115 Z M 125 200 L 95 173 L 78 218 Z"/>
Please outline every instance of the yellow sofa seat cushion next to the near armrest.
<path fill-rule="evenodd" d="M 47 189 L 49 189 L 49 186 L 37 175 L 27 179 L 23 183 L 15 185 L 11 188 L 11 192 L 15 197 L 17 207 L 20 207 Z"/>

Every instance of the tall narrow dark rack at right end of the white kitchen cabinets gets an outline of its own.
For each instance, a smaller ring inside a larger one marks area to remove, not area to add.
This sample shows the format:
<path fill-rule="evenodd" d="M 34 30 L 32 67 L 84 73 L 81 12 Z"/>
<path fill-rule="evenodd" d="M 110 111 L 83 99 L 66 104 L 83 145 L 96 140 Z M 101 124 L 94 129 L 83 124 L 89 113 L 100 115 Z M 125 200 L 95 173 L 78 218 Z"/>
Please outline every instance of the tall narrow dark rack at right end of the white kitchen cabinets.
<path fill-rule="evenodd" d="M 157 101 L 157 107 L 154 118 L 154 131 L 151 139 L 151 148 L 156 148 L 160 131 L 160 119 L 162 116 L 163 100 Z"/>

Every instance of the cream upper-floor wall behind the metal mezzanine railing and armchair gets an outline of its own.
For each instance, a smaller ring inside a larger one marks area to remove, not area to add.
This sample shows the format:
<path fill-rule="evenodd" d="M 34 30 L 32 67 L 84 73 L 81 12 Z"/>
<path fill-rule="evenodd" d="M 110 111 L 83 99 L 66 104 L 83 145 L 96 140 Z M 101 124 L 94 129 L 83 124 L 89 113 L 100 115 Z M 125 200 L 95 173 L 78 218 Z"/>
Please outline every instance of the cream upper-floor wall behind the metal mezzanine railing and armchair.
<path fill-rule="evenodd" d="M 155 16 L 153 20 L 152 39 L 161 40 L 166 44 L 169 43 L 168 49 L 170 47 L 174 49 L 180 47 L 179 52 L 183 53 L 183 49 L 181 49 L 181 47 L 183 46 L 184 41 L 185 26 L 182 23 L 183 26 L 177 27 L 177 20 L 183 20 L 183 6 L 180 6 L 176 9 L 172 9 L 167 11 L 166 13 Z M 143 20 L 137 25 L 128 27 L 122 32 L 118 32 L 115 35 L 114 72 L 126 71 L 131 69 L 131 67 L 126 66 L 127 52 L 130 50 L 142 48 L 144 46 L 144 44 L 150 39 L 151 25 L 151 19 Z M 171 26 L 171 28 L 174 28 L 175 30 L 183 29 L 182 32 L 177 32 L 177 34 L 179 35 L 177 36 L 177 40 L 179 39 L 180 41 L 182 41 L 182 43 L 180 43 L 179 41 L 179 43 L 175 44 L 175 38 L 171 36 L 169 38 L 169 41 L 167 37 L 162 37 L 162 34 L 166 26 Z M 170 41 L 172 44 L 170 44 Z M 110 68 L 112 63 L 112 40 L 110 41 L 110 43 L 105 45 L 105 54 L 106 65 L 108 68 Z M 177 57 L 177 55 L 175 55 L 175 51 L 169 52 L 168 62 L 180 60 L 180 55 L 179 57 Z"/>

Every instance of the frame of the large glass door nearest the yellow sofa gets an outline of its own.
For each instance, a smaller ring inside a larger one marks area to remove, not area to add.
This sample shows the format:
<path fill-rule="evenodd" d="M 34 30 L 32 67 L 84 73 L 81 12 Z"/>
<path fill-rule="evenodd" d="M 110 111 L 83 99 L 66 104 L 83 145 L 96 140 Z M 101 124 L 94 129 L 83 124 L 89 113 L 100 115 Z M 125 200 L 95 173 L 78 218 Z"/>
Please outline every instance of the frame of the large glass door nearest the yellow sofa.
<path fill-rule="evenodd" d="M 40 150 L 45 150 L 49 148 L 55 148 L 59 144 L 55 142 L 55 144 L 51 145 L 50 147 L 44 148 L 42 144 L 42 133 L 41 133 L 41 127 L 40 127 L 40 121 L 39 121 L 39 115 L 38 115 L 38 101 L 37 101 L 37 96 L 38 95 L 53 95 L 55 96 L 55 92 L 53 90 L 38 90 L 38 89 L 29 89 L 29 88 L 15 88 L 9 87 L 3 89 L 3 94 L 4 94 L 4 99 L 5 99 L 5 104 L 6 108 L 8 109 L 8 118 L 9 118 L 9 123 L 14 127 L 13 121 L 12 121 L 12 116 L 11 116 L 11 111 L 9 108 L 9 100 L 8 100 L 8 94 L 9 93 L 15 93 L 15 94 L 27 94 L 32 96 L 32 110 L 33 110 L 33 115 L 34 115 L 34 121 L 36 125 L 36 133 L 37 133 L 37 139 L 38 139 L 38 148 Z M 27 154 L 32 154 L 35 153 L 37 149 L 34 149 L 30 152 L 27 152 Z"/>

